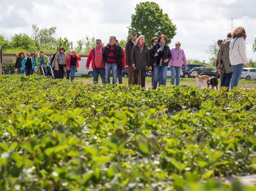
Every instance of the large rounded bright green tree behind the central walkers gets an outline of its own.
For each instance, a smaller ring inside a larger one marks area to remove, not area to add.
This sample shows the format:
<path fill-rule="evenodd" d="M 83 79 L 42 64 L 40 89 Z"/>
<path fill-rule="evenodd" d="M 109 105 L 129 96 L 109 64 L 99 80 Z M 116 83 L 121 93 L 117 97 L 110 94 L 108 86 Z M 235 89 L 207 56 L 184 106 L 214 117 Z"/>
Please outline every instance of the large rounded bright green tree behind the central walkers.
<path fill-rule="evenodd" d="M 131 15 L 131 25 L 128 27 L 128 38 L 130 32 L 136 31 L 137 36 L 144 35 L 149 45 L 152 37 L 165 34 L 168 43 L 176 34 L 176 25 L 172 23 L 166 13 L 155 2 L 142 2 L 135 7 L 135 14 Z"/>

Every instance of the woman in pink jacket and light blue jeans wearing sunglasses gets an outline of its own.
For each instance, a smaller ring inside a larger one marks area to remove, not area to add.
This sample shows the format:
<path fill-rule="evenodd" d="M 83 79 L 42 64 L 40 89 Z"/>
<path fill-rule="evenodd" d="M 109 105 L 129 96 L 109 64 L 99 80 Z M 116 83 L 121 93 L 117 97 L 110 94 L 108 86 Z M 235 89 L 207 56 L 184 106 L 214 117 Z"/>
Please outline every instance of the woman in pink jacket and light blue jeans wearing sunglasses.
<path fill-rule="evenodd" d="M 184 53 L 184 50 L 180 48 L 180 41 L 175 42 L 175 48 L 171 49 L 171 59 L 170 59 L 170 67 L 171 67 L 171 84 L 174 85 L 175 76 L 176 76 L 176 86 L 179 85 L 182 60 L 185 65 L 185 70 L 187 70 L 187 60 Z"/>

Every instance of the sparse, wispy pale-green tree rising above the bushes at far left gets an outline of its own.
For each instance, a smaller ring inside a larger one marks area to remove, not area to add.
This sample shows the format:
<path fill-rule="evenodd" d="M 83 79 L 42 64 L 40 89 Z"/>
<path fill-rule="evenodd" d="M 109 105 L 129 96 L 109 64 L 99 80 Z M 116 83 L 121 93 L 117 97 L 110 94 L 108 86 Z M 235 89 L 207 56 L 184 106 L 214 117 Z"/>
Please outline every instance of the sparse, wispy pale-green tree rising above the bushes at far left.
<path fill-rule="evenodd" d="M 32 38 L 37 40 L 41 47 L 56 46 L 56 27 L 39 29 L 37 24 L 32 24 L 32 30 Z"/>

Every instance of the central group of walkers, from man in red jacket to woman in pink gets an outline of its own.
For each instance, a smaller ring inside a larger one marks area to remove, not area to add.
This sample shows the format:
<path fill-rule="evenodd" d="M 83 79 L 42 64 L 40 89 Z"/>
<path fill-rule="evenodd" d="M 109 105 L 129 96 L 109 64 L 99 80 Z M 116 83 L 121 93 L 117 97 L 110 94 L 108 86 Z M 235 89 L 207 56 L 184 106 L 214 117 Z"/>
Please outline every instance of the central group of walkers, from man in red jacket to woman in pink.
<path fill-rule="evenodd" d="M 110 74 L 113 75 L 113 84 L 117 78 L 122 79 L 122 69 L 128 66 L 128 85 L 138 84 L 145 87 L 146 69 L 152 71 L 152 87 L 156 89 L 159 85 L 166 85 L 167 67 L 171 67 L 171 84 L 179 85 L 182 61 L 187 69 L 187 61 L 184 51 L 180 48 L 180 41 L 175 42 L 175 48 L 171 49 L 166 44 L 167 36 L 164 34 L 158 38 L 153 37 L 148 49 L 145 37 L 137 38 L 135 31 L 131 32 L 131 38 L 126 43 L 125 52 L 118 44 L 116 36 L 110 36 L 110 43 L 105 47 L 100 39 L 96 40 L 96 47 L 92 48 L 86 63 L 89 69 L 92 62 L 94 83 L 98 83 L 99 75 L 103 83 L 110 83 Z M 172 53 L 175 56 L 172 57 Z M 126 57 L 126 58 L 125 58 Z M 119 84 L 122 84 L 122 81 Z"/>

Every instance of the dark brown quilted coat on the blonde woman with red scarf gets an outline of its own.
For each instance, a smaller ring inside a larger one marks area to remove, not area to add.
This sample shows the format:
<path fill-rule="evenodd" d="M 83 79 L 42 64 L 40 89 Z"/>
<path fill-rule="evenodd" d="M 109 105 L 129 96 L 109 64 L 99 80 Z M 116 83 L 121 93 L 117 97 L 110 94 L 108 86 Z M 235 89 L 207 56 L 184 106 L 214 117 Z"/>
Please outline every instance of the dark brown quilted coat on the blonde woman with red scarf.
<path fill-rule="evenodd" d="M 148 48 L 144 44 L 143 50 L 140 53 L 139 44 L 136 43 L 131 50 L 131 64 L 135 64 L 135 70 L 146 70 L 148 65 Z"/>

